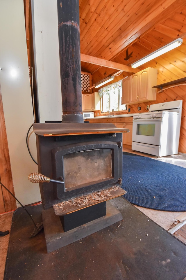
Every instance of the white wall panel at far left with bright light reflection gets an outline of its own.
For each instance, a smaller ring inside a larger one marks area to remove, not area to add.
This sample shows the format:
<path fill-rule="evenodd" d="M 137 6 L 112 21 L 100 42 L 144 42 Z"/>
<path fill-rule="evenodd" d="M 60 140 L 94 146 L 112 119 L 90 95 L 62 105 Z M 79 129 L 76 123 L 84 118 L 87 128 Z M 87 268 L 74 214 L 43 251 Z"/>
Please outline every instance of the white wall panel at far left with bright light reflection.
<path fill-rule="evenodd" d="M 0 1 L 0 84 L 15 196 L 24 205 L 41 200 L 39 185 L 28 181 L 37 171 L 26 146 L 34 122 L 26 49 L 23 0 Z M 15 76 L 11 75 L 14 71 Z M 37 161 L 35 134 L 29 139 Z M 3 182 L 2 182 L 3 183 Z"/>

